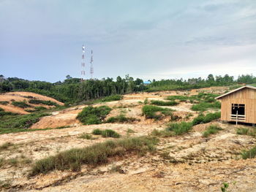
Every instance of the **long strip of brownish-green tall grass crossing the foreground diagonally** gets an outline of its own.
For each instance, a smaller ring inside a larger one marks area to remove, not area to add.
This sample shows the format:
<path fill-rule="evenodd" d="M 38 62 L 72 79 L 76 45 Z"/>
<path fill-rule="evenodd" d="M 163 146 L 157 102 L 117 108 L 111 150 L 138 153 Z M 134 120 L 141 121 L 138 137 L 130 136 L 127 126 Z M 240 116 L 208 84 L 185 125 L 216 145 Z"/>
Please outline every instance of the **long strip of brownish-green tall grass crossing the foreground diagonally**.
<path fill-rule="evenodd" d="M 130 153 L 145 154 L 148 151 L 154 151 L 155 145 L 157 145 L 157 139 L 154 137 L 134 137 L 110 140 L 89 147 L 73 148 L 37 161 L 29 176 L 46 174 L 55 169 L 79 171 L 83 164 L 98 166 L 107 164 L 109 158 L 112 157 L 124 157 Z"/>

